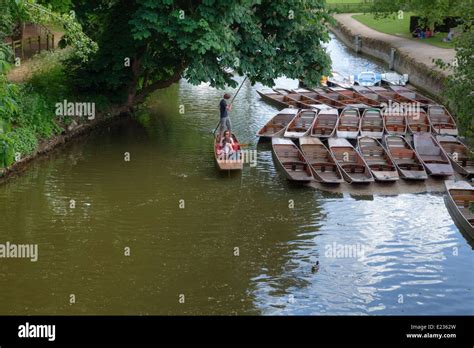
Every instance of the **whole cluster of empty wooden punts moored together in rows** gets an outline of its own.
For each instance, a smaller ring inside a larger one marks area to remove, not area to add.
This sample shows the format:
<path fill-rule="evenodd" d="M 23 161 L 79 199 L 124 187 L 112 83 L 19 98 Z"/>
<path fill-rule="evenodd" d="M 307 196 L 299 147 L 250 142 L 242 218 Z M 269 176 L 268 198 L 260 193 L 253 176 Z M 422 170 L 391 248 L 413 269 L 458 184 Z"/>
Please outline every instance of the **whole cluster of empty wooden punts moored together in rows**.
<path fill-rule="evenodd" d="M 257 135 L 272 138 L 288 179 L 353 183 L 474 174 L 469 149 L 443 106 L 406 87 L 353 88 L 259 92 L 285 107 Z"/>

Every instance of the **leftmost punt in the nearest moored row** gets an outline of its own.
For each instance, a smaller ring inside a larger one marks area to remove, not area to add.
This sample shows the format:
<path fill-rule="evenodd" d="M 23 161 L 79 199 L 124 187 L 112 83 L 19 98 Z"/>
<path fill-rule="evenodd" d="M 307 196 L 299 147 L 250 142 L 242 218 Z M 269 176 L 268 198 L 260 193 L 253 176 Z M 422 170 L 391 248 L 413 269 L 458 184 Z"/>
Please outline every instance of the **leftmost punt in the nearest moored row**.
<path fill-rule="evenodd" d="M 306 182 L 314 179 L 308 162 L 290 139 L 273 137 L 272 150 L 288 180 Z"/>

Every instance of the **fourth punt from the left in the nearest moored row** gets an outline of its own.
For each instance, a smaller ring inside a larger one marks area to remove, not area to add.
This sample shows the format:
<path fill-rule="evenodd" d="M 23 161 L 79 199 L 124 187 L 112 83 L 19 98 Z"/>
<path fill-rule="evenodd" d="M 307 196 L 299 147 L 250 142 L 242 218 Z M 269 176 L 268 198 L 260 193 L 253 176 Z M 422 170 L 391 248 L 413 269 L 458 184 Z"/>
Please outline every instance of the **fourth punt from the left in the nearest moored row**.
<path fill-rule="evenodd" d="M 369 165 L 376 181 L 397 181 L 400 178 L 390 154 L 376 138 L 359 137 L 357 150 Z"/>

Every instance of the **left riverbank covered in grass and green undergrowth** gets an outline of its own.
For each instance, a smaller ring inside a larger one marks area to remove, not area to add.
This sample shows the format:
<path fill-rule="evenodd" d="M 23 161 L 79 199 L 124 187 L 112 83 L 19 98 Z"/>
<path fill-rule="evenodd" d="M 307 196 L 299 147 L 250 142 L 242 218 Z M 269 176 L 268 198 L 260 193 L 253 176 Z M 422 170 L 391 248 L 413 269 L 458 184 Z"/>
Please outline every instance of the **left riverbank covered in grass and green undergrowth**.
<path fill-rule="evenodd" d="M 10 71 L 15 82 L 4 80 L 0 103 L 0 172 L 34 153 L 42 142 L 87 122 L 87 118 L 57 116 L 56 104 L 64 100 L 94 102 L 96 112 L 108 107 L 103 98 L 77 96 L 67 83 L 63 62 L 68 50 L 35 56 L 25 66 Z M 3 79 L 5 76 L 1 75 Z"/>

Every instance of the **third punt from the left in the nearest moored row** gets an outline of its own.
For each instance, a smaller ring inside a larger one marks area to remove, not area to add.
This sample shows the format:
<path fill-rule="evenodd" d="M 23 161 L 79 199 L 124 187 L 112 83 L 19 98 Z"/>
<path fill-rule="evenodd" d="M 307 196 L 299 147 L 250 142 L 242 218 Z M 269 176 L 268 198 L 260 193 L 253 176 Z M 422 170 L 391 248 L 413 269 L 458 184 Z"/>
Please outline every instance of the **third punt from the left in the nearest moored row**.
<path fill-rule="evenodd" d="M 370 169 L 362 156 L 346 139 L 329 138 L 329 151 L 336 159 L 342 176 L 349 183 L 369 183 L 374 181 Z"/>

